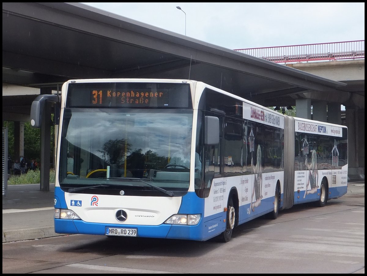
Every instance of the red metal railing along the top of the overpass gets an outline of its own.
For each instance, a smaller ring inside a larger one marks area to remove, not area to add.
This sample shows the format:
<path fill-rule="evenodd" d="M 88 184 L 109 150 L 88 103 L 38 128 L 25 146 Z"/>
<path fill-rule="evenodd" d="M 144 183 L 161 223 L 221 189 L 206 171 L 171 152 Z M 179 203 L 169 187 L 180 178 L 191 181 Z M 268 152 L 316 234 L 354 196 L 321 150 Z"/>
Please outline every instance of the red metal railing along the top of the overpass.
<path fill-rule="evenodd" d="M 277 63 L 364 58 L 364 40 L 235 49 Z"/>

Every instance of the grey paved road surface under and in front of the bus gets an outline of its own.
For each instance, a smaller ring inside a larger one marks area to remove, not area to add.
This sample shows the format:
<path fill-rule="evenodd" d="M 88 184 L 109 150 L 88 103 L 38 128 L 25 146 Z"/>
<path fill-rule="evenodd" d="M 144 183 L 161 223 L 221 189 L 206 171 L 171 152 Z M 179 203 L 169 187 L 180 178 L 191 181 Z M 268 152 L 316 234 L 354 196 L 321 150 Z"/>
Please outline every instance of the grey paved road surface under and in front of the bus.
<path fill-rule="evenodd" d="M 240 225 L 228 243 L 93 235 L 6 242 L 3 273 L 364 273 L 364 217 L 364 193 L 348 193 Z"/>

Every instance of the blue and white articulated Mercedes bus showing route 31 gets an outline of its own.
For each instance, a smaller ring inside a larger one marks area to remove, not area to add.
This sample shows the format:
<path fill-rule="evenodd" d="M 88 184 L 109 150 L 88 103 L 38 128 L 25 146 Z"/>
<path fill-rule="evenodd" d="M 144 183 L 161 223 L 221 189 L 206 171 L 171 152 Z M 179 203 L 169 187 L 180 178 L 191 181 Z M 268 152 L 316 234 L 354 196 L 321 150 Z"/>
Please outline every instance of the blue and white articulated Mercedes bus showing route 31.
<path fill-rule="evenodd" d="M 60 100 L 59 100 L 60 99 Z M 56 233 L 228 242 L 240 224 L 347 192 L 348 129 L 193 80 L 70 80 L 59 105 Z"/>

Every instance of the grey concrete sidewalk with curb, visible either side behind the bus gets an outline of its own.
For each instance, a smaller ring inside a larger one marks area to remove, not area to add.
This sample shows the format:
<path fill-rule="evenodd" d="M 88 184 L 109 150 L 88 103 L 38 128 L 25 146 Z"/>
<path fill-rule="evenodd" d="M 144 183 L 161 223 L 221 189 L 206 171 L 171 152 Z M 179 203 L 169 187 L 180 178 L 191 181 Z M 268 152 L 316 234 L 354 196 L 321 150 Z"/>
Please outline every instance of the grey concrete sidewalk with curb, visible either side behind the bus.
<path fill-rule="evenodd" d="M 54 231 L 54 184 L 9 185 L 3 196 L 3 243 L 63 236 Z M 347 195 L 364 194 L 364 180 L 349 181 Z"/>

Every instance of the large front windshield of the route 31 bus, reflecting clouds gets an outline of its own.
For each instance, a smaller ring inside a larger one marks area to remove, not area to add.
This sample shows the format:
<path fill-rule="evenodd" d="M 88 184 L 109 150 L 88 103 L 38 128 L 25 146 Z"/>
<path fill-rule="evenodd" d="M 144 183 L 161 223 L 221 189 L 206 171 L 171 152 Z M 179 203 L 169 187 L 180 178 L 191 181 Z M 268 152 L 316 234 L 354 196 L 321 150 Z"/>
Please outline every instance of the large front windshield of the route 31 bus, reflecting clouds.
<path fill-rule="evenodd" d="M 128 189 L 148 182 L 187 191 L 190 155 L 182 164 L 171 161 L 190 152 L 185 141 L 191 141 L 192 121 L 188 109 L 65 108 L 60 187 L 108 183 Z"/>

